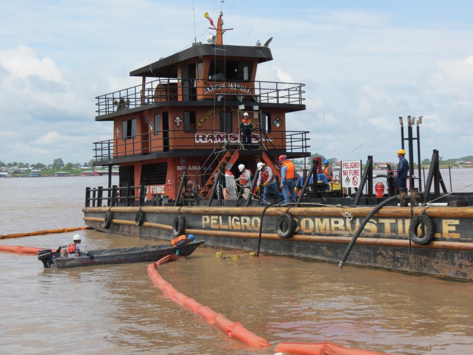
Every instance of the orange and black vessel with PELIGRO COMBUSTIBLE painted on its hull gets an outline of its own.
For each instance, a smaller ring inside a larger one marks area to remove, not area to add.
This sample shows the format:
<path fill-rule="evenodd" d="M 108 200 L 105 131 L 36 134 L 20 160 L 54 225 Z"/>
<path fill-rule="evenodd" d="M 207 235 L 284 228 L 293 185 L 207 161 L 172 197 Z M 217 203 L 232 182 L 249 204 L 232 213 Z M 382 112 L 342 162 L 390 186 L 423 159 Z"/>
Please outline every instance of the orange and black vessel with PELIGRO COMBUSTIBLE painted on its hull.
<path fill-rule="evenodd" d="M 261 199 L 261 163 L 279 186 L 281 156 L 310 157 L 309 132 L 286 129 L 293 113 L 306 108 L 305 85 L 257 81 L 258 66 L 273 59 L 271 39 L 224 45 L 222 16 L 216 27 L 206 16 L 215 31 L 208 43 L 133 70 L 130 76 L 141 77 L 141 84 L 97 97 L 96 121 L 112 121 L 113 137 L 94 143 L 94 165 L 108 166 L 110 176 L 119 165 L 120 183 L 112 186 L 110 178 L 107 188 L 86 189 L 85 223 L 151 239 L 192 233 L 208 246 L 339 261 L 339 267 L 346 262 L 473 279 L 473 197 L 446 193 L 437 151 L 425 191 L 413 188 L 411 131 L 410 194 L 396 194 L 392 172 L 386 175 L 388 193 L 376 184 L 374 194 L 369 156 L 363 171 L 361 161 L 340 162 L 342 179 L 330 182 L 330 191 L 319 179 L 320 159 L 314 159 L 297 199 Z M 243 141 L 248 127 L 250 138 Z M 251 185 L 228 198 L 225 173 L 238 177 L 241 165 L 252 172 Z M 352 171 L 356 179 L 350 180 Z"/>

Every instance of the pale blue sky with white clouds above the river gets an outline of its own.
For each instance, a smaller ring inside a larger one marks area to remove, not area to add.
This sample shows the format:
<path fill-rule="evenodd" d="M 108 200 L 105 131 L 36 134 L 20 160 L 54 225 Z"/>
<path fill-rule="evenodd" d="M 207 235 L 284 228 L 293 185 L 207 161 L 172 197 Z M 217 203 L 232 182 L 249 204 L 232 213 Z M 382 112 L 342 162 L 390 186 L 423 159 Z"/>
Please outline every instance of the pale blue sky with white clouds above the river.
<path fill-rule="evenodd" d="M 397 162 L 401 126 L 423 115 L 421 160 L 473 155 L 473 2 L 226 0 L 224 44 L 270 37 L 257 80 L 304 83 L 311 153 Z M 18 0 L 0 12 L 0 161 L 84 163 L 111 139 L 96 97 L 129 73 L 206 42 L 217 0 Z M 414 128 L 417 136 L 417 128 Z M 407 142 L 406 148 L 407 148 Z M 417 147 L 417 142 L 414 143 Z M 413 152 L 417 157 L 417 149 Z"/>

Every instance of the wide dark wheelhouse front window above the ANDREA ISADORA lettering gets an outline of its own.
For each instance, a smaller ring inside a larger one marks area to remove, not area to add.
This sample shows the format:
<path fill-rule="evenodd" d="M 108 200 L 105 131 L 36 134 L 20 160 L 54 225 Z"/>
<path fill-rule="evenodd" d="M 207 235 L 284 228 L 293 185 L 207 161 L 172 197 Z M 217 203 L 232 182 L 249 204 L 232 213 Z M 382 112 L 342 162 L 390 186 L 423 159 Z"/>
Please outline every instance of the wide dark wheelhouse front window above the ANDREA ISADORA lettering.
<path fill-rule="evenodd" d="M 253 62 L 212 60 L 209 79 L 250 81 L 252 72 Z"/>

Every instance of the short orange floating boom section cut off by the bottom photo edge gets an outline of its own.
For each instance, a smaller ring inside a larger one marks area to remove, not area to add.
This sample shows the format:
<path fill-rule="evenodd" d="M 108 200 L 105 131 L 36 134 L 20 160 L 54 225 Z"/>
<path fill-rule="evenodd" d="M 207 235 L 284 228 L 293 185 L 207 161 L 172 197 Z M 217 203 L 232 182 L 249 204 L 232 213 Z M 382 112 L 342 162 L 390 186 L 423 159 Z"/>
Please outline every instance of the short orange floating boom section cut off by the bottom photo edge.
<path fill-rule="evenodd" d="M 300 355 L 389 355 L 386 352 L 351 349 L 332 343 L 279 343 L 274 351 Z"/>

